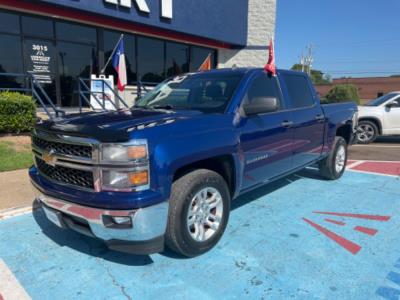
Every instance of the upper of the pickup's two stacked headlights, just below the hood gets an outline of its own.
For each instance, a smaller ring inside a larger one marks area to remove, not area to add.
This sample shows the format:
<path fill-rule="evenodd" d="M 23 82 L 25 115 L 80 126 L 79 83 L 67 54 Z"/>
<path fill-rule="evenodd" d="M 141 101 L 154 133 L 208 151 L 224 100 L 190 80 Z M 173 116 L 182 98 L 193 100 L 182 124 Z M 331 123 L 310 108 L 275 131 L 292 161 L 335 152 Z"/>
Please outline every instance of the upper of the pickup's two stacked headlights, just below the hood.
<path fill-rule="evenodd" d="M 130 162 L 148 159 L 147 141 L 135 140 L 129 144 L 102 144 L 102 162 Z"/>

